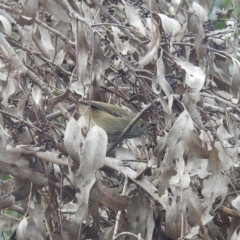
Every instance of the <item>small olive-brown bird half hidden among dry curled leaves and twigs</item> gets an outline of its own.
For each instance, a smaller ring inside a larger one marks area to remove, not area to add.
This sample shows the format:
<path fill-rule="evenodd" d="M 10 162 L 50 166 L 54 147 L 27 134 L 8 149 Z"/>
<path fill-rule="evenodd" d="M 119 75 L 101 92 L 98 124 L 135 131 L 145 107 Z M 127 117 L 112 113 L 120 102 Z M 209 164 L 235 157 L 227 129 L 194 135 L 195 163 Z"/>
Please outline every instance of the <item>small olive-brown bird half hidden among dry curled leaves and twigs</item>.
<path fill-rule="evenodd" d="M 89 121 L 88 106 L 88 102 L 79 104 L 80 112 L 84 115 L 86 122 Z M 91 111 L 93 121 L 103 128 L 112 139 L 117 138 L 135 117 L 135 114 L 121 107 L 97 101 L 91 101 Z M 144 121 L 140 119 L 124 138 L 135 138 L 145 133 Z"/>

